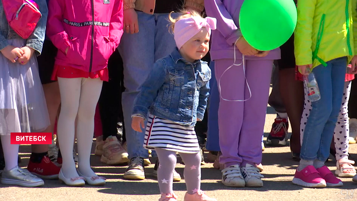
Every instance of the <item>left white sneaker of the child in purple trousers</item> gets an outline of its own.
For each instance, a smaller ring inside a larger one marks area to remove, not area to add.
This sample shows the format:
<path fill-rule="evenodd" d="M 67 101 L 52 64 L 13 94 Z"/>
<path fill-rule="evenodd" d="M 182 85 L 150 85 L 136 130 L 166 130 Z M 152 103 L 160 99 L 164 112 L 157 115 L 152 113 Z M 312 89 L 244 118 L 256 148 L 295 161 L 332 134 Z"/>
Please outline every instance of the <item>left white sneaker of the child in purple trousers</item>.
<path fill-rule="evenodd" d="M 230 187 L 245 186 L 245 181 L 239 165 L 232 165 L 222 170 L 222 184 Z"/>

